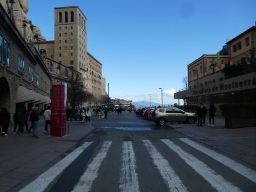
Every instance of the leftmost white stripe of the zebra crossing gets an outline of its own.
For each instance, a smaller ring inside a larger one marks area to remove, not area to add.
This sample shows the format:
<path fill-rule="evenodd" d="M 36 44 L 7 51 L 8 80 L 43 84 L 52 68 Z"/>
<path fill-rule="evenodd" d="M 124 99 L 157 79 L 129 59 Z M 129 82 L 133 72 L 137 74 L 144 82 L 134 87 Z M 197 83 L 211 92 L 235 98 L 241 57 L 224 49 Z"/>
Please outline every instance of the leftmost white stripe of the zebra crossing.
<path fill-rule="evenodd" d="M 39 175 L 35 180 L 30 182 L 20 192 L 25 191 L 44 191 L 47 186 L 60 175 L 69 164 L 71 164 L 92 142 L 86 142 L 81 147 L 76 148 L 73 152 L 64 157 L 61 161 L 54 164 L 49 170 Z"/>

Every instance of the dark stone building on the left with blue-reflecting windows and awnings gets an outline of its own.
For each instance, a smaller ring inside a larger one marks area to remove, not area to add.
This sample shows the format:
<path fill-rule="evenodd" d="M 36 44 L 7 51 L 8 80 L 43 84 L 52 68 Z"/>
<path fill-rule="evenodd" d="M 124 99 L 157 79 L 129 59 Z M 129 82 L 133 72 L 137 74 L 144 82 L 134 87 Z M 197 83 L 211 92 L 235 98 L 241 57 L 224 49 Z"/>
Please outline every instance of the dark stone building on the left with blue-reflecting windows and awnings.
<path fill-rule="evenodd" d="M 0 108 L 11 115 L 25 106 L 51 103 L 51 76 L 36 49 L 29 46 L 0 4 Z"/>

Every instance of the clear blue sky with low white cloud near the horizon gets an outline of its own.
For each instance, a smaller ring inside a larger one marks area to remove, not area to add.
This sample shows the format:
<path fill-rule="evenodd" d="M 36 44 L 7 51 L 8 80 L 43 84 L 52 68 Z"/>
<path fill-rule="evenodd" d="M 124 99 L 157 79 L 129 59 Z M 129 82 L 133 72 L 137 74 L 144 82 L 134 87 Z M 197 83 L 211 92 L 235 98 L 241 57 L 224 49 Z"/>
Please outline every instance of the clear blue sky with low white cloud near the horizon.
<path fill-rule="evenodd" d="M 87 51 L 111 99 L 174 104 L 189 63 L 255 25 L 255 0 L 28 0 L 28 18 L 54 40 L 54 7 L 79 6 Z M 108 86 L 106 86 L 108 92 Z M 149 96 L 150 95 L 150 96 Z"/>

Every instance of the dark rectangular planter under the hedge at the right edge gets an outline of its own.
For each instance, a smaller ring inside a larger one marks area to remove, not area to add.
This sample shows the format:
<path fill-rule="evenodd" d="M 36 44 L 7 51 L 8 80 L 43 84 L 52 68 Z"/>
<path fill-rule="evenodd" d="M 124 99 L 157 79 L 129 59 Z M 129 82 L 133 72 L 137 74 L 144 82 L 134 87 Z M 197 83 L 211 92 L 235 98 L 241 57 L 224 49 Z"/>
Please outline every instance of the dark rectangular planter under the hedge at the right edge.
<path fill-rule="evenodd" d="M 256 118 L 225 118 L 225 127 L 228 129 L 256 127 Z"/>

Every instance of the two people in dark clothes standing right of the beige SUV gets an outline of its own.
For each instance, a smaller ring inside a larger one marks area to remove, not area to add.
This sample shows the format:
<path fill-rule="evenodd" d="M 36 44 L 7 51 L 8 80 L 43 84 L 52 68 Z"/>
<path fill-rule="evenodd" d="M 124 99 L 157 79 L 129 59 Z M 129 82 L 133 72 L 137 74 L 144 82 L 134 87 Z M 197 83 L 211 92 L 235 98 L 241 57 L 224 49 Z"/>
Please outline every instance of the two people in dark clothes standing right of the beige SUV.
<path fill-rule="evenodd" d="M 204 106 L 204 102 L 201 102 L 200 106 L 198 106 L 198 109 L 197 109 L 197 115 L 198 115 L 197 126 L 203 126 L 203 124 L 205 124 L 205 118 L 206 118 L 208 111 L 209 111 L 209 124 L 208 125 L 214 126 L 214 122 L 215 122 L 214 116 L 215 116 L 217 109 L 213 103 L 211 103 L 210 108 L 207 109 Z"/>

